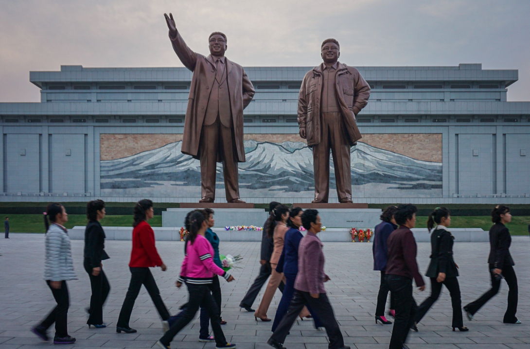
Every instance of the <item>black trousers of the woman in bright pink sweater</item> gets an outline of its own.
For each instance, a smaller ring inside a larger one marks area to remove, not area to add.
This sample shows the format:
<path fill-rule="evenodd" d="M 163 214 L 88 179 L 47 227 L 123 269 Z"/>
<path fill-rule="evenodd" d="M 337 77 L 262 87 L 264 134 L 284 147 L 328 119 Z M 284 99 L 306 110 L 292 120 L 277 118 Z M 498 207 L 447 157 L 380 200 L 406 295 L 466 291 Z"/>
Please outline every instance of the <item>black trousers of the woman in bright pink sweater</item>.
<path fill-rule="evenodd" d="M 220 324 L 221 317 L 217 304 L 215 303 L 214 298 L 211 297 L 210 288 L 208 285 L 204 284 L 196 285 L 188 283 L 187 286 L 188 292 L 190 293 L 188 306 L 184 309 L 182 316 L 180 316 L 162 338 L 160 338 L 160 342 L 169 346 L 175 335 L 193 320 L 199 307 L 204 307 L 211 319 L 211 328 L 214 330 L 215 342 L 217 345 L 226 345 L 226 338 Z"/>

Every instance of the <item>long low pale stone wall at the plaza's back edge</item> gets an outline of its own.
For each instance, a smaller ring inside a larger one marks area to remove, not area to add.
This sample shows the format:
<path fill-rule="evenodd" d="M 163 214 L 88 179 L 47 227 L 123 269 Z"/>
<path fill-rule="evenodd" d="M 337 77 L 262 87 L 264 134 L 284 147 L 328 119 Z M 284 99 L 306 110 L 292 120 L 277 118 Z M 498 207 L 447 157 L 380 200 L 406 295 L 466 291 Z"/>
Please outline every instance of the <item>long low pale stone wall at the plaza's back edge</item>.
<path fill-rule="evenodd" d="M 107 240 L 131 240 L 133 228 L 131 227 L 103 227 Z M 154 227 L 155 239 L 157 241 L 180 241 L 180 228 L 158 228 Z M 261 243 L 262 231 L 226 230 L 225 228 L 213 228 L 221 241 L 255 241 Z M 450 229 L 457 243 L 487 243 L 489 241 L 488 231 L 480 228 L 455 228 Z M 430 242 L 429 231 L 425 228 L 412 229 L 414 238 L 418 243 Z M 83 240 L 85 227 L 77 226 L 68 230 L 70 239 Z M 328 228 L 319 233 L 323 242 L 338 243 L 351 242 L 350 229 Z M 372 236 L 373 240 L 374 236 Z"/>

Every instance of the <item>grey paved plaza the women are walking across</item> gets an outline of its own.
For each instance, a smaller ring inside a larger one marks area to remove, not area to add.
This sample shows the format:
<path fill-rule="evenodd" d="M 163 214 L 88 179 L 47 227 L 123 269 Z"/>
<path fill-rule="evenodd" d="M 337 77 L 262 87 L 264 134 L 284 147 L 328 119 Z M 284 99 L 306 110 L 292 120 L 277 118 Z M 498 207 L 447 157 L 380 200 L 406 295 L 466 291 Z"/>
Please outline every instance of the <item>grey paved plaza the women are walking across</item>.
<path fill-rule="evenodd" d="M 32 325 L 45 317 L 55 305 L 51 292 L 43 281 L 44 237 L 37 234 L 10 234 L 10 239 L 0 238 L 0 349 L 40 348 L 50 343 L 42 342 L 29 332 Z M 158 314 L 143 288 L 138 296 L 131 317 L 130 326 L 135 334 L 116 334 L 116 321 L 129 284 L 130 241 L 107 241 L 105 249 L 111 259 L 104 261 L 103 269 L 111 284 L 109 299 L 103 309 L 104 329 L 89 329 L 86 325 L 84 308 L 89 306 L 90 282 L 83 269 L 83 241 L 72 241 L 75 270 L 78 280 L 69 281 L 70 309 L 68 312 L 69 334 L 77 338 L 75 345 L 64 347 L 105 347 L 105 348 L 149 348 L 162 336 Z M 171 314 L 185 303 L 188 292 L 183 287 L 178 290 L 174 281 L 179 275 L 183 258 L 183 243 L 174 241 L 157 242 L 158 252 L 167 264 L 167 271 L 153 269 L 162 298 Z M 407 345 L 411 349 L 461 348 L 461 349 L 522 349 L 530 348 L 530 266 L 528 265 L 528 237 L 514 237 L 511 247 L 519 282 L 519 305 L 517 316 L 522 325 L 502 324 L 506 310 L 507 285 L 503 281 L 501 291 L 478 314 L 473 321 L 464 318 L 469 332 L 452 332 L 451 302 L 444 288 L 440 299 L 418 325 L 419 332 L 412 332 Z M 242 269 L 233 271 L 236 281 L 227 283 L 221 280 L 223 292 L 222 316 L 228 321 L 223 326 L 229 342 L 240 349 L 270 348 L 266 342 L 272 323 L 254 320 L 250 312 L 241 310 L 238 305 L 249 285 L 259 272 L 259 243 L 228 242 L 220 244 L 222 254 L 241 254 Z M 459 278 L 462 303 L 478 298 L 489 286 L 488 265 L 486 264 L 488 243 L 457 243 L 454 246 L 455 261 L 460 265 Z M 326 283 L 328 295 L 335 310 L 346 345 L 358 349 L 387 348 L 390 342 L 392 325 L 375 325 L 375 301 L 379 285 L 379 272 L 372 271 L 371 243 L 325 243 L 325 271 L 331 277 Z M 425 272 L 430 244 L 418 244 L 418 263 Z M 426 280 L 427 281 L 427 280 Z M 429 286 L 429 282 L 427 282 Z M 264 291 L 264 287 L 262 292 Z M 429 296 L 425 292 L 414 291 L 414 298 L 420 303 Z M 260 296 L 261 297 L 260 293 Z M 281 293 L 276 292 L 268 311 L 273 318 Z M 390 299 L 390 298 L 389 298 Z M 259 298 L 254 303 L 255 309 Z M 211 329 L 211 327 L 210 327 Z M 54 328 L 51 328 L 51 335 Z M 196 318 L 177 335 L 171 344 L 178 349 L 214 349 L 214 343 L 200 343 L 199 324 Z M 285 346 L 288 349 L 327 348 L 325 332 L 315 330 L 312 321 L 298 320 L 290 331 Z"/>

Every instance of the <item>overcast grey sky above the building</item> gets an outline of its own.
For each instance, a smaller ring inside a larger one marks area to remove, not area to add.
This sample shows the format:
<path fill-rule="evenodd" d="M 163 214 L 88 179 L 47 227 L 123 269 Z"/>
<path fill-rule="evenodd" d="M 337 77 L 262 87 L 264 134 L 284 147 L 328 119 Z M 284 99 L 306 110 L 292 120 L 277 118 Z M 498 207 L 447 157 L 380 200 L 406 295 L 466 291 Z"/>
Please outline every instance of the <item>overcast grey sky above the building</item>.
<path fill-rule="evenodd" d="M 0 0 L 0 102 L 38 102 L 29 71 L 181 67 L 164 12 L 208 54 L 222 31 L 243 66 L 315 66 L 333 37 L 352 66 L 518 69 L 508 101 L 530 101 L 529 0 Z"/>

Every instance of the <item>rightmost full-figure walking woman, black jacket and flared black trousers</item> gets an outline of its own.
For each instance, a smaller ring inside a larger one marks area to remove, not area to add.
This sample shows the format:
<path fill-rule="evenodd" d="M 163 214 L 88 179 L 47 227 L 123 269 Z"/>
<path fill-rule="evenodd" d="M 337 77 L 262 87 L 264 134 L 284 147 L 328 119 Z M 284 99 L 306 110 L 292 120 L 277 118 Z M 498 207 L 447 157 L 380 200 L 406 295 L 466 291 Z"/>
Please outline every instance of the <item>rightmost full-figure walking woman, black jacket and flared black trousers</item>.
<path fill-rule="evenodd" d="M 491 211 L 491 221 L 494 223 L 490 228 L 490 255 L 488 257 L 488 270 L 491 276 L 491 289 L 484 293 L 479 299 L 464 307 L 467 318 L 473 316 L 479 309 L 499 292 L 502 278 L 508 284 L 508 309 L 502 320 L 505 324 L 520 324 L 515 313 L 517 312 L 517 276 L 514 271 L 514 260 L 510 255 L 511 236 L 505 224 L 511 221 L 510 209 L 505 205 L 497 205 Z"/>

